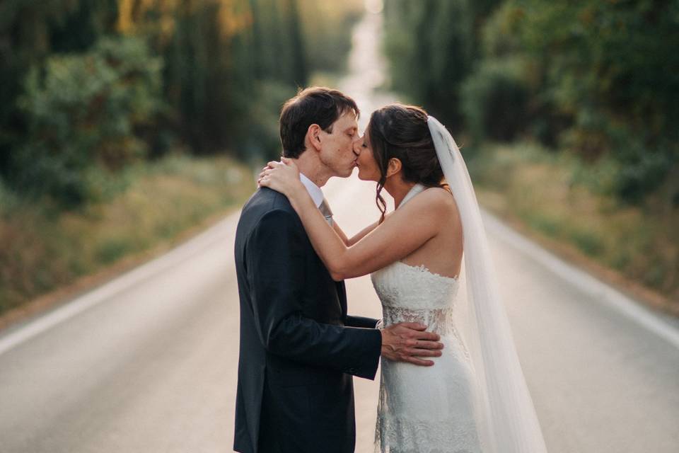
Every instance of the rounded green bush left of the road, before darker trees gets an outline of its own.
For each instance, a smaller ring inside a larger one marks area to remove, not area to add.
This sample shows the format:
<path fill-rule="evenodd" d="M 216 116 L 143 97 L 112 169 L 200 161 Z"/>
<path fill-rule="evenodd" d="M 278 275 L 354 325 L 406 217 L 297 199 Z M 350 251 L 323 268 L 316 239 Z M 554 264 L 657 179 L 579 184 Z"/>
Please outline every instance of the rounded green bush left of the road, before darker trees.
<path fill-rule="evenodd" d="M 146 153 L 134 129 L 163 107 L 161 69 L 137 38 L 102 38 L 33 67 L 18 103 L 28 137 L 11 157 L 13 186 L 66 207 L 100 194 L 98 167 L 115 171 Z"/>

